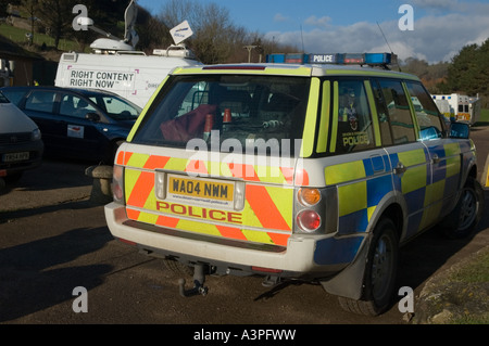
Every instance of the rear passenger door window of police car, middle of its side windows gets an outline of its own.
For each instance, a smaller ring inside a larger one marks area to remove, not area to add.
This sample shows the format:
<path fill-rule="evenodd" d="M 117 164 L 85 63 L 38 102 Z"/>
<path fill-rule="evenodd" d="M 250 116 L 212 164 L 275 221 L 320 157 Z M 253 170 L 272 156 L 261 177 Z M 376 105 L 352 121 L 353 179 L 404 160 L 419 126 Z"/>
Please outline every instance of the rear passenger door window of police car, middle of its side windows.
<path fill-rule="evenodd" d="M 410 104 L 400 80 L 380 79 L 376 90 L 376 103 L 384 145 L 416 141 Z"/>

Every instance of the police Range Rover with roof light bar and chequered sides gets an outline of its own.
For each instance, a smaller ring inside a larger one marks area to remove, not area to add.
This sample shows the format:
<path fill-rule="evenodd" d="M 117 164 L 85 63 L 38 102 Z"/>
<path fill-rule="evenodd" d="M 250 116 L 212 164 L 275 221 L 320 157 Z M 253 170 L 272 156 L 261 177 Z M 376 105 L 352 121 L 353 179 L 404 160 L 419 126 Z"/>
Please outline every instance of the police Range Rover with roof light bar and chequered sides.
<path fill-rule="evenodd" d="M 165 78 L 116 155 L 110 231 L 192 269 L 184 296 L 205 294 L 210 273 L 260 274 L 381 313 L 401 245 L 440 222 L 467 235 L 480 218 L 469 129 L 386 68 L 391 54 L 267 59 Z"/>

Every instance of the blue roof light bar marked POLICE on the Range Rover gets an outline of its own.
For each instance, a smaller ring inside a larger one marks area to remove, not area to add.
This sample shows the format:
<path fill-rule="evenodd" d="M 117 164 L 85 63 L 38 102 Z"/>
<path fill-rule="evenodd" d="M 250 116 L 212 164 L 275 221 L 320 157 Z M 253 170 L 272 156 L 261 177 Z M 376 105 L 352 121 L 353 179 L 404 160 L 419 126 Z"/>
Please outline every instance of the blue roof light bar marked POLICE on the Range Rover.
<path fill-rule="evenodd" d="M 268 54 L 267 63 L 336 64 L 385 66 L 394 61 L 391 53 Z"/>

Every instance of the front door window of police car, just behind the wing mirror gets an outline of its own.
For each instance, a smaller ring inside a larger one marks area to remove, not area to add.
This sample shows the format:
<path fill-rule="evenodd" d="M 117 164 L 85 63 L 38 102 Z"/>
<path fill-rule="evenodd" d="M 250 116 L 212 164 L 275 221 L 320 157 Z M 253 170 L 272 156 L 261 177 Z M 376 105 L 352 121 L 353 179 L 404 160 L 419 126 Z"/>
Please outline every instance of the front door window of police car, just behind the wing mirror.
<path fill-rule="evenodd" d="M 406 86 L 419 125 L 419 138 L 422 140 L 441 138 L 443 131 L 441 118 L 429 93 L 419 82 L 408 81 Z"/>

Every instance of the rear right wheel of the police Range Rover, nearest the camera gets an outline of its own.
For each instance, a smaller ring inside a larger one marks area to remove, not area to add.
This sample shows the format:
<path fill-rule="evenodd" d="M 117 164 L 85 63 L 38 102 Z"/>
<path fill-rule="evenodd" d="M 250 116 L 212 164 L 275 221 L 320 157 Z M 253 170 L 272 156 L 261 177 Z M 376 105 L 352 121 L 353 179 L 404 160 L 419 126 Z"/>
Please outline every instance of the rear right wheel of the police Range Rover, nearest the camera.
<path fill-rule="evenodd" d="M 368 249 L 363 296 L 360 300 L 338 297 L 341 307 L 350 312 L 377 316 L 391 304 L 396 287 L 399 259 L 399 241 L 396 226 L 388 218 L 381 219 L 374 230 Z"/>

